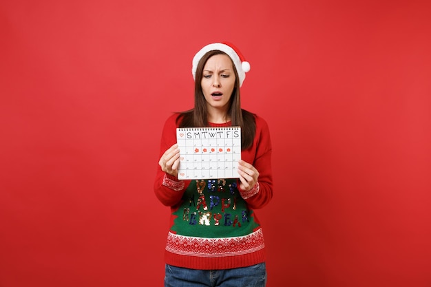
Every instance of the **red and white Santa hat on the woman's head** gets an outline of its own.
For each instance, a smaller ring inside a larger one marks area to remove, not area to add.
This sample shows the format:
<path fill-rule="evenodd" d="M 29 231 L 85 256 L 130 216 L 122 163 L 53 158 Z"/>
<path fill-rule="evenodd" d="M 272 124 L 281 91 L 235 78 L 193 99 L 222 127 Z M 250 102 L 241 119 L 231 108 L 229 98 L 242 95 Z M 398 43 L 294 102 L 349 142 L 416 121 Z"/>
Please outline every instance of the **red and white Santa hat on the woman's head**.
<path fill-rule="evenodd" d="M 196 55 L 193 57 L 191 66 L 191 74 L 193 74 L 193 79 L 196 80 L 196 67 L 198 67 L 198 63 L 202 56 L 213 50 L 220 50 L 231 57 L 232 62 L 235 65 L 236 72 L 238 73 L 238 77 L 240 78 L 241 87 L 242 82 L 244 82 L 245 79 L 245 73 L 250 71 L 250 63 L 245 61 L 244 56 L 242 56 L 240 50 L 238 50 L 237 47 L 227 42 L 206 45 L 205 47 L 202 47 L 198 53 L 196 53 Z"/>

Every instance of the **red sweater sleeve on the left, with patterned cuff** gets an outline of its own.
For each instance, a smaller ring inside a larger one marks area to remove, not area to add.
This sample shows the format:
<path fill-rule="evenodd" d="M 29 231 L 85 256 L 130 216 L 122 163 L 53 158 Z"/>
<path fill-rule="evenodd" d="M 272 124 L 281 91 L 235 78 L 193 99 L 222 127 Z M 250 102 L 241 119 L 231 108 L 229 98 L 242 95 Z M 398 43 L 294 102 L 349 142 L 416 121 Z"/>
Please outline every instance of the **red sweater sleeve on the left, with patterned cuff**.
<path fill-rule="evenodd" d="M 170 116 L 162 130 L 162 138 L 160 140 L 160 152 L 158 158 L 169 147 L 176 143 L 176 117 L 178 114 Z M 189 181 L 178 180 L 174 176 L 162 171 L 160 165 L 157 164 L 156 180 L 154 181 L 154 193 L 160 202 L 165 206 L 174 206 L 180 202 L 182 194 L 187 189 Z"/>

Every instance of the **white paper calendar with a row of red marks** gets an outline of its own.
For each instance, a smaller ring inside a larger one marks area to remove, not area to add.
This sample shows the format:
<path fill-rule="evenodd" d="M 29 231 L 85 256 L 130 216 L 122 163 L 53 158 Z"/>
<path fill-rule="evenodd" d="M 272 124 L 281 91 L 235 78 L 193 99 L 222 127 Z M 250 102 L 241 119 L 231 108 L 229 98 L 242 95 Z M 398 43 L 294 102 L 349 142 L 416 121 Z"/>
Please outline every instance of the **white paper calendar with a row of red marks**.
<path fill-rule="evenodd" d="M 176 129 L 180 149 L 178 179 L 239 178 L 240 127 Z"/>

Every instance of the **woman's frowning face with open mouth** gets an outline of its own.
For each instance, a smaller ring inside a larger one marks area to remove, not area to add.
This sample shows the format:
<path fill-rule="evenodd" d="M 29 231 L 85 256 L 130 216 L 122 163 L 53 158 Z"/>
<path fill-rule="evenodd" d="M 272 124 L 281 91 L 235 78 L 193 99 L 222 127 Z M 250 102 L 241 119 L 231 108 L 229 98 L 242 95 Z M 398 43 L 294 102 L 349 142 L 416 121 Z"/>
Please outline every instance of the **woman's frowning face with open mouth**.
<path fill-rule="evenodd" d="M 211 56 L 202 72 L 202 92 L 207 100 L 207 108 L 226 112 L 235 87 L 235 72 L 229 56 Z"/>

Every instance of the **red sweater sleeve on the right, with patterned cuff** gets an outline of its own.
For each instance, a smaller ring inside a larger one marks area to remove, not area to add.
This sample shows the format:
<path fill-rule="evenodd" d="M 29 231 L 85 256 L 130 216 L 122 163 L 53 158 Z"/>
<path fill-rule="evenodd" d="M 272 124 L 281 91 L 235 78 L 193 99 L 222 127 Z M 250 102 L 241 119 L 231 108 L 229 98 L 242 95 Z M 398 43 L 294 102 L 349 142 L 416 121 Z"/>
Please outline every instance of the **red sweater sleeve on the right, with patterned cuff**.
<path fill-rule="evenodd" d="M 253 167 L 259 171 L 257 184 L 250 191 L 242 191 L 240 194 L 252 209 L 261 209 L 273 197 L 273 173 L 271 168 L 271 137 L 269 127 L 265 120 L 256 116 L 256 135 L 253 141 L 255 152 Z"/>

